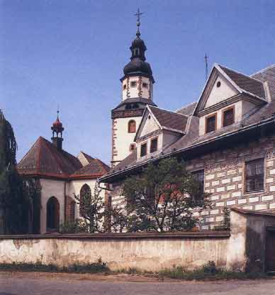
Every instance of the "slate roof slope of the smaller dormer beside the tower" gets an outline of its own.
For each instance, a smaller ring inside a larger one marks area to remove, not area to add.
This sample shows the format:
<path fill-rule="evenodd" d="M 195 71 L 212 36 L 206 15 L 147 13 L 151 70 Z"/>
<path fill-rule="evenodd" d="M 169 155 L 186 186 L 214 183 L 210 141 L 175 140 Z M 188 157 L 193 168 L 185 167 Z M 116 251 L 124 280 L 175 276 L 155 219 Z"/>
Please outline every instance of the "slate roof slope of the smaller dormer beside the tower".
<path fill-rule="evenodd" d="M 162 108 L 157 108 L 155 106 L 150 106 L 149 108 L 157 121 L 159 121 L 159 124 L 162 126 L 162 128 L 179 130 L 181 132 L 186 130 L 188 116 L 181 113 L 167 111 Z"/>

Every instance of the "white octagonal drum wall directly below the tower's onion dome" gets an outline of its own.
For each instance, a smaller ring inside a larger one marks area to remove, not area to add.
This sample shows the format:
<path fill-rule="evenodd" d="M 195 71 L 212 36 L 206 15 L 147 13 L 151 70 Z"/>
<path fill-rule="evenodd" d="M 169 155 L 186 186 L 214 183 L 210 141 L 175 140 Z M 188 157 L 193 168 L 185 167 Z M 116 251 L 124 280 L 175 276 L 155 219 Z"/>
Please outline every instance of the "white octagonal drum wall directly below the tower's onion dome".
<path fill-rule="evenodd" d="M 130 82 L 131 81 L 135 81 L 137 82 L 137 85 L 136 87 L 131 87 L 130 86 Z M 150 99 L 150 91 L 151 91 L 151 100 L 152 100 L 152 87 L 153 87 L 153 84 L 151 83 L 150 79 L 147 78 L 147 77 L 142 77 L 141 78 L 141 83 L 147 83 L 148 84 L 148 87 L 145 88 L 145 87 L 141 87 L 142 89 L 142 98 L 143 99 Z M 130 91 L 130 97 L 127 97 L 127 78 L 125 78 L 121 84 L 121 87 L 122 87 L 122 99 L 123 101 L 125 99 L 129 99 L 129 98 L 135 98 L 135 97 L 139 97 L 138 95 L 138 83 L 139 83 L 139 76 L 134 76 L 134 77 L 129 77 L 129 91 Z M 123 85 L 126 84 L 126 89 L 123 90 Z"/>

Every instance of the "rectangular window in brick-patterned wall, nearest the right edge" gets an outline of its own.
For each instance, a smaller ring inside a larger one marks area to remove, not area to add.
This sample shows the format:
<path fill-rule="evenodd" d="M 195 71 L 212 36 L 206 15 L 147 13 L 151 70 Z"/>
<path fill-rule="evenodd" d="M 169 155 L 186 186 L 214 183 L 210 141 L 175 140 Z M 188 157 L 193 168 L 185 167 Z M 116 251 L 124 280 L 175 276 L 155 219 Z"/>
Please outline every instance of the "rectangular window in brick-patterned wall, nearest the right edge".
<path fill-rule="evenodd" d="M 245 163 L 245 191 L 264 189 L 264 158 Z"/>

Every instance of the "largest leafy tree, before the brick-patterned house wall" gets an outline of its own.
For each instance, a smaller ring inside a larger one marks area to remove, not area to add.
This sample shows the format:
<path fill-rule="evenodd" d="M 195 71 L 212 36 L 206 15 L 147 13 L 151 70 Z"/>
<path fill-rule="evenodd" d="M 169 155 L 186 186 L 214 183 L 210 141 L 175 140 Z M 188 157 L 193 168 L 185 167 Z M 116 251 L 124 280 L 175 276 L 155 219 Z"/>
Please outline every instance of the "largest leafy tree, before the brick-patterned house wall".
<path fill-rule="evenodd" d="M 131 232 L 188 230 L 196 225 L 193 209 L 210 206 L 208 194 L 174 157 L 125 179 L 123 194 Z"/>

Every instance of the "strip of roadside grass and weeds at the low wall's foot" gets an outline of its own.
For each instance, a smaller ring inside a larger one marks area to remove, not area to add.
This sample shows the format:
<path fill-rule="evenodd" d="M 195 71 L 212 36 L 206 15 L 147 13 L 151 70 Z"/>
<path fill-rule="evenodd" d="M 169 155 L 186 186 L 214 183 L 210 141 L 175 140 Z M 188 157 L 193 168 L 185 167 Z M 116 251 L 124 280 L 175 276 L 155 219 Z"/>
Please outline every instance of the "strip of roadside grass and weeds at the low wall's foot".
<path fill-rule="evenodd" d="M 56 265 L 43 265 L 40 261 L 35 263 L 19 263 L 13 262 L 11 264 L 1 263 L 0 271 L 10 272 L 65 272 L 65 273 L 101 273 L 101 274 L 131 274 L 143 275 L 147 277 L 156 277 L 159 280 L 180 279 L 180 280 L 196 280 L 196 281 L 214 281 L 214 280 L 228 280 L 228 279 L 267 279 L 269 276 L 263 272 L 233 272 L 227 269 L 221 269 L 215 266 L 215 262 L 209 261 L 203 267 L 197 269 L 187 269 L 182 266 L 174 266 L 171 269 L 163 269 L 159 272 L 150 272 L 138 269 L 136 267 L 129 267 L 111 271 L 106 262 L 102 262 L 101 257 L 94 263 L 86 265 L 69 265 L 68 267 L 57 267 Z"/>

